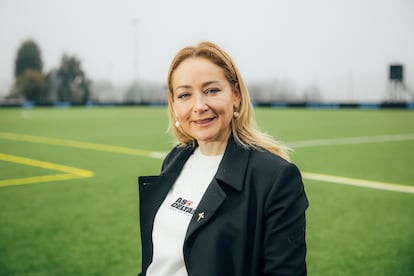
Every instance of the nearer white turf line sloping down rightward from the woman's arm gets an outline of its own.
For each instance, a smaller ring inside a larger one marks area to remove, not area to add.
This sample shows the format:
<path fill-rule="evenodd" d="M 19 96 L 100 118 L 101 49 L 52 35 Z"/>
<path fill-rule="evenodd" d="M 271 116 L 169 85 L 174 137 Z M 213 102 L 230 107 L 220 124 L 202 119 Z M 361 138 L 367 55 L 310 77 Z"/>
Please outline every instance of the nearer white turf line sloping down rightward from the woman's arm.
<path fill-rule="evenodd" d="M 370 181 L 357 178 L 348 178 L 335 175 L 318 174 L 311 172 L 302 172 L 302 177 L 309 180 L 317 180 L 328 183 L 351 185 L 357 187 L 364 187 L 377 190 L 387 190 L 393 192 L 411 193 L 414 194 L 414 187 L 407 185 L 400 185 L 387 182 Z"/>

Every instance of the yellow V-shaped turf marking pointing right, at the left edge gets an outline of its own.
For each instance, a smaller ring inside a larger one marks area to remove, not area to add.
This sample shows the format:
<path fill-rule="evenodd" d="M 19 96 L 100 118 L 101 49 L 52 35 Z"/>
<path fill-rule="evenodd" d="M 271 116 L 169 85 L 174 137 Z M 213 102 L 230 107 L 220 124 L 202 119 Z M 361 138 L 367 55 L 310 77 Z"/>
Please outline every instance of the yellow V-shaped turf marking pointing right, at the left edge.
<path fill-rule="evenodd" d="M 94 176 L 94 173 L 91 171 L 82 170 L 82 169 L 64 166 L 64 165 L 59 165 L 59 164 L 50 163 L 50 162 L 34 160 L 34 159 L 15 156 L 15 155 L 0 153 L 0 160 L 22 164 L 26 166 L 39 167 L 42 169 L 49 169 L 49 170 L 64 172 L 64 174 L 4 179 L 4 180 L 0 180 L 0 187 L 33 184 L 33 183 L 39 183 L 39 182 L 61 181 L 61 180 L 69 180 L 69 179 L 76 179 L 76 178 L 87 178 L 87 177 Z"/>

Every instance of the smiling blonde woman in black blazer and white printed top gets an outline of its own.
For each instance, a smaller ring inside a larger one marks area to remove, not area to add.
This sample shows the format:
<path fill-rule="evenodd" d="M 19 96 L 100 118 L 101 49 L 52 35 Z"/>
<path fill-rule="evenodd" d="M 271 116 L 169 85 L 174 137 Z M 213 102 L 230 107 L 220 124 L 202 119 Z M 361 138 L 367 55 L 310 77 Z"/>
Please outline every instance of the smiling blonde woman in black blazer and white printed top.
<path fill-rule="evenodd" d="M 232 59 L 186 47 L 168 89 L 179 144 L 159 176 L 139 178 L 142 275 L 306 275 L 300 173 L 256 128 Z"/>

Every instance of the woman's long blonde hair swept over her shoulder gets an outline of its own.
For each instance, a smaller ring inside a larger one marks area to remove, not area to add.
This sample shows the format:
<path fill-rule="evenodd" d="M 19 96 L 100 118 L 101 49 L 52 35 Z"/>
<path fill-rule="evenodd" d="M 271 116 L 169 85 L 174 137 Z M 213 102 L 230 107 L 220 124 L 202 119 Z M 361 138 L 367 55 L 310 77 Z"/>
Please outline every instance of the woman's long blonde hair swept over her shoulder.
<path fill-rule="evenodd" d="M 168 113 L 169 130 L 180 145 L 195 146 L 197 141 L 185 133 L 181 128 L 175 127 L 176 116 L 173 110 L 172 78 L 175 69 L 187 58 L 206 58 L 223 69 L 224 76 L 240 94 L 239 116 L 231 122 L 231 132 L 234 140 L 244 148 L 263 148 L 285 159 L 289 159 L 288 148 L 276 142 L 271 136 L 259 130 L 253 118 L 253 106 L 247 87 L 232 58 L 219 46 L 212 42 L 202 42 L 197 46 L 188 46 L 181 49 L 171 62 L 168 71 Z"/>

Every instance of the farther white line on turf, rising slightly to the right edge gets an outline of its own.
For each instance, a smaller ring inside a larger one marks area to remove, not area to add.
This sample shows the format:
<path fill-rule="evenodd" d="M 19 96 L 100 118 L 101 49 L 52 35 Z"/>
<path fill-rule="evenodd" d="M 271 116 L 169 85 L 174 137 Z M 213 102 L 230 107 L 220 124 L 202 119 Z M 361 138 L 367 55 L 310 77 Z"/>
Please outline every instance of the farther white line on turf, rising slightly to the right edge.
<path fill-rule="evenodd" d="M 384 142 L 398 142 L 414 140 L 414 133 L 406 134 L 391 134 L 380 136 L 360 136 L 347 138 L 333 138 L 333 139 L 316 139 L 305 141 L 294 141 L 287 143 L 289 147 L 307 148 L 307 147 L 322 147 L 332 145 L 351 145 L 351 144 L 366 144 L 366 143 L 384 143 Z"/>

